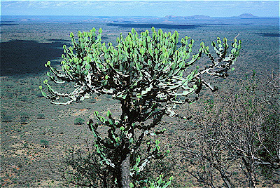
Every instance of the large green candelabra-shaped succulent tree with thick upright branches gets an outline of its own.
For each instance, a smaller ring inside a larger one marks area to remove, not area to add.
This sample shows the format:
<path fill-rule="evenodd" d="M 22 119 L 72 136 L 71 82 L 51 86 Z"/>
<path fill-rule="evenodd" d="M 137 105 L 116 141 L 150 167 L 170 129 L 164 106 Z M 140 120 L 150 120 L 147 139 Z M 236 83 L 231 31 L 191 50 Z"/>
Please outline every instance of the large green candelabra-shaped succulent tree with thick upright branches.
<path fill-rule="evenodd" d="M 200 43 L 200 49 L 193 53 L 194 40 L 188 36 L 181 39 L 179 34 L 151 32 L 138 34 L 135 29 L 126 37 L 120 34 L 117 46 L 102 43 L 102 29 L 96 32 L 78 32 L 78 41 L 70 34 L 72 45 L 65 45 L 62 54 L 62 69 L 50 69 L 48 76 L 55 83 L 72 82 L 75 88 L 71 93 L 59 93 L 43 81 L 50 95 L 43 92 L 45 98 L 55 105 L 68 105 L 71 102 L 90 98 L 92 93 L 108 94 L 121 104 L 121 115 L 115 117 L 110 111 L 101 116 L 95 111 L 99 122 L 90 119 L 88 126 L 94 137 L 94 145 L 104 168 L 113 173 L 111 180 L 116 187 L 133 187 L 137 175 L 153 159 L 162 159 L 169 151 L 160 152 L 159 141 L 155 135 L 165 132 L 156 130 L 162 117 L 176 116 L 172 110 L 174 104 L 191 102 L 189 95 L 200 93 L 202 86 L 216 90 L 202 79 L 203 74 L 226 77 L 230 66 L 234 64 L 240 50 L 240 41 L 234 39 L 232 50 L 224 38 L 212 42 L 218 58 L 209 52 L 209 47 Z M 205 55 L 211 61 L 200 69 L 195 65 Z M 66 98 L 61 101 L 59 98 Z M 98 126 L 108 127 L 108 135 L 102 137 Z M 143 153 L 141 149 L 146 148 Z M 111 152 L 110 152 L 111 151 Z M 160 177 L 159 180 L 162 180 Z M 160 184 L 167 187 L 169 182 Z M 160 187 L 161 185 L 157 185 Z M 152 187 L 155 185 L 151 185 Z"/>

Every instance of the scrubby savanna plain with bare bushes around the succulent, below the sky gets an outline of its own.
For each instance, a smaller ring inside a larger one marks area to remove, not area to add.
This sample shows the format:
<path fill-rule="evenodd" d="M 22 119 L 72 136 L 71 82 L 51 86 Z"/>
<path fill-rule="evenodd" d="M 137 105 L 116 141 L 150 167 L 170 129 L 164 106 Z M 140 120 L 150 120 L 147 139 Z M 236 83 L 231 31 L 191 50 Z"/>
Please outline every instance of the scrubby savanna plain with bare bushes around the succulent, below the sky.
<path fill-rule="evenodd" d="M 240 54 L 228 78 L 208 79 L 218 91 L 203 88 L 195 102 L 174 106 L 185 119 L 164 116 L 153 128 L 166 128 L 155 137 L 170 153 L 151 161 L 147 175 L 163 174 L 167 179 L 172 175 L 171 187 L 280 186 L 279 18 L 247 14 L 232 18 L 1 16 L 1 187 L 74 187 L 78 179 L 71 179 L 75 178 L 71 170 L 84 165 L 74 159 L 82 161 L 84 154 L 95 151 L 87 121 L 96 119 L 94 111 L 120 115 L 120 103 L 111 95 L 94 94 L 62 106 L 50 104 L 39 89 L 48 79 L 45 63 L 59 68 L 62 46 L 71 46 L 69 34 L 93 27 L 102 28 L 102 42 L 113 46 L 120 33 L 127 36 L 132 28 L 139 34 L 151 32 L 152 27 L 176 30 L 179 41 L 190 36 L 195 40 L 193 53 L 202 41 L 211 46 L 217 36 L 226 37 L 228 43 L 240 40 Z M 197 65 L 207 63 L 201 58 Z M 73 86 L 56 88 L 69 91 Z M 99 126 L 100 133 L 106 130 Z M 267 163 L 255 158 L 246 161 L 248 154 Z"/>

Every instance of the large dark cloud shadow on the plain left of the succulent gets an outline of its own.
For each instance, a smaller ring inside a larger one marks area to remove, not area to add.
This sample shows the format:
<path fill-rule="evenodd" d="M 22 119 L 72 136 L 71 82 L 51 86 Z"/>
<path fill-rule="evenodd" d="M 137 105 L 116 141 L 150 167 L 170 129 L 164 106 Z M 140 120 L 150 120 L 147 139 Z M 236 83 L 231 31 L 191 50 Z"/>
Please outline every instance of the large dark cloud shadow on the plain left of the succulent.
<path fill-rule="evenodd" d="M 1 76 L 46 72 L 45 62 L 63 53 L 65 41 L 38 43 L 37 41 L 8 41 L 0 43 Z"/>

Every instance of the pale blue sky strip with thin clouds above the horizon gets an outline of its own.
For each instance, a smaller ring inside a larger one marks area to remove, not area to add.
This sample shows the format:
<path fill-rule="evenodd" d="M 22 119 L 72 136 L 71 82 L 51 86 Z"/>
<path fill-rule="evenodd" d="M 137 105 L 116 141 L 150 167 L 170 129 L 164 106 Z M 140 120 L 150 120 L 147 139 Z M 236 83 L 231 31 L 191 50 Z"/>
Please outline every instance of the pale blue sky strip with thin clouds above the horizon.
<path fill-rule="evenodd" d="M 1 15 L 278 17 L 279 1 L 1 1 Z"/>

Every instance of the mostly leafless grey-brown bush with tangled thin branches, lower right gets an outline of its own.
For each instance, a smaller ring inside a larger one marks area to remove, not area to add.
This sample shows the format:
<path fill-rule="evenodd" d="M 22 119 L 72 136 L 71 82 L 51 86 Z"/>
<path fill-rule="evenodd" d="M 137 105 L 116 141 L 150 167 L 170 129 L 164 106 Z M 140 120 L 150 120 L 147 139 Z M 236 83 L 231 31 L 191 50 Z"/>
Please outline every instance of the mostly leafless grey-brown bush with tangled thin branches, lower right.
<path fill-rule="evenodd" d="M 240 83 L 230 83 L 215 102 L 206 100 L 204 113 L 194 112 L 193 121 L 199 126 L 191 130 L 193 136 L 178 137 L 177 147 L 182 149 L 186 171 L 198 182 L 211 187 L 256 187 L 260 177 L 277 174 L 279 93 L 274 86 L 269 79 L 260 84 L 253 73 Z"/>

